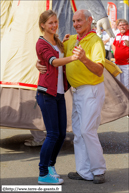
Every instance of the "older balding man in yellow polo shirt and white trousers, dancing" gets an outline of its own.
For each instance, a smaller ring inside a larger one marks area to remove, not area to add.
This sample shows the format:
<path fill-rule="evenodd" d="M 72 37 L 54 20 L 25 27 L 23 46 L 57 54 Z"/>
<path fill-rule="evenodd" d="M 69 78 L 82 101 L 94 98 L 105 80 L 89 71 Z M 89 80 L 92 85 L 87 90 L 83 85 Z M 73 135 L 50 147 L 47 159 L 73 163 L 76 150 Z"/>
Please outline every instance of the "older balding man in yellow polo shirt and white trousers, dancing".
<path fill-rule="evenodd" d="M 101 39 L 91 30 L 92 17 L 89 11 L 79 10 L 73 16 L 77 35 L 64 43 L 65 56 L 73 53 L 79 60 L 66 65 L 66 75 L 73 87 L 72 128 L 76 171 L 68 177 L 75 180 L 93 180 L 104 183 L 106 171 L 102 147 L 97 129 L 103 106 L 105 48 Z M 77 44 L 79 45 L 77 48 Z"/>

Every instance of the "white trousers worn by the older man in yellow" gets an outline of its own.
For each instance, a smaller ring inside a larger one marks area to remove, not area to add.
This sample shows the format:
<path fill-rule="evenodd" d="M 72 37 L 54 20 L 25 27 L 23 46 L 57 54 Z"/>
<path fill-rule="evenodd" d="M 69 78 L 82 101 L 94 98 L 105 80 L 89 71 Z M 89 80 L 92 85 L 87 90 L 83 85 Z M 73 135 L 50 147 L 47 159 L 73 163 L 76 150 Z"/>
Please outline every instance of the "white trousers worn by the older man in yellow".
<path fill-rule="evenodd" d="M 77 173 L 86 180 L 106 171 L 98 138 L 100 113 L 105 98 L 104 83 L 73 89 L 72 127 Z"/>

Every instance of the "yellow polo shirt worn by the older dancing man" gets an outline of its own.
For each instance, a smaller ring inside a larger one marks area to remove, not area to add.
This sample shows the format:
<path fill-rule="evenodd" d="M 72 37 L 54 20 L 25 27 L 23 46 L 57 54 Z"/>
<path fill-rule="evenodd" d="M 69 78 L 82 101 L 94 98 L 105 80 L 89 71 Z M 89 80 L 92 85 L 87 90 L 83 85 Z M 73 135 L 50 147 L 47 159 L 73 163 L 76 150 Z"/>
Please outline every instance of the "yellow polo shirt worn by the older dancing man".
<path fill-rule="evenodd" d="M 66 57 L 72 55 L 76 41 L 77 35 L 71 35 L 69 40 L 64 42 L 64 54 Z M 79 45 L 85 50 L 87 58 L 104 66 L 104 44 L 95 33 L 88 34 L 79 42 Z M 74 88 L 85 84 L 96 85 L 104 81 L 103 75 L 101 77 L 96 76 L 80 60 L 66 64 L 66 76 L 70 85 Z"/>

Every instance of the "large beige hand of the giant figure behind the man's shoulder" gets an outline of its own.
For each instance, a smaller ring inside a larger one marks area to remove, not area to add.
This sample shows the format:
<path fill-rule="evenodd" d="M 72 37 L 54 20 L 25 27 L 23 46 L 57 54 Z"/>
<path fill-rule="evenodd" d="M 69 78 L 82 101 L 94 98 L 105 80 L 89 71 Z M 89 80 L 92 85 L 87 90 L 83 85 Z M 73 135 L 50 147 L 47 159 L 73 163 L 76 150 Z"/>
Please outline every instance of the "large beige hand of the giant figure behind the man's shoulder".
<path fill-rule="evenodd" d="M 112 31 L 112 28 L 110 26 L 108 17 L 104 17 L 104 18 L 97 21 L 97 32 L 99 34 L 102 33 L 101 32 L 101 27 L 108 33 L 110 38 L 111 37 L 115 38 L 115 35 L 114 35 L 114 33 Z"/>

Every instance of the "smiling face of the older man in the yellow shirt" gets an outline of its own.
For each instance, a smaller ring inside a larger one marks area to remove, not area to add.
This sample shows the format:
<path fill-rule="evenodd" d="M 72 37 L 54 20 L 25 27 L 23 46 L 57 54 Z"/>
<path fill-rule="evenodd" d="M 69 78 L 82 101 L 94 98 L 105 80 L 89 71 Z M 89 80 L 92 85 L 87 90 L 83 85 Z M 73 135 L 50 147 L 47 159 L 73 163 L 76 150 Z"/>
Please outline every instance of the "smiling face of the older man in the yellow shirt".
<path fill-rule="evenodd" d="M 79 35 L 85 33 L 91 27 L 89 18 L 86 20 L 83 12 L 77 11 L 73 16 L 73 27 Z"/>

